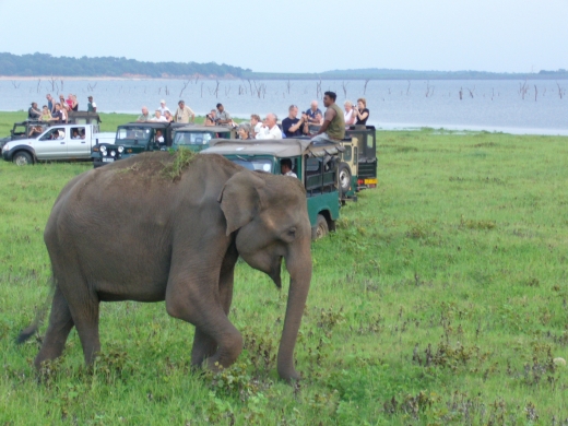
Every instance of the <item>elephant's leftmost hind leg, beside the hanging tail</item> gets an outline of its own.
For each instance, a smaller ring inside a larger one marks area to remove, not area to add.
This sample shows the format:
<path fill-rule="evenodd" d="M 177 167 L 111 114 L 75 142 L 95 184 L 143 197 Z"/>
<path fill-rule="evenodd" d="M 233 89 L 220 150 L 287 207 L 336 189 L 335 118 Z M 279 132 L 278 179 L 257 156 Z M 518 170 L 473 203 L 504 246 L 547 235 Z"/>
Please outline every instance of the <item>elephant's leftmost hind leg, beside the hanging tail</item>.
<path fill-rule="evenodd" d="M 39 368 L 44 360 L 55 359 L 61 355 L 72 328 L 73 319 L 69 305 L 58 287 L 56 288 L 54 300 L 51 301 L 49 326 L 44 338 L 44 343 L 34 360 L 36 368 Z"/>

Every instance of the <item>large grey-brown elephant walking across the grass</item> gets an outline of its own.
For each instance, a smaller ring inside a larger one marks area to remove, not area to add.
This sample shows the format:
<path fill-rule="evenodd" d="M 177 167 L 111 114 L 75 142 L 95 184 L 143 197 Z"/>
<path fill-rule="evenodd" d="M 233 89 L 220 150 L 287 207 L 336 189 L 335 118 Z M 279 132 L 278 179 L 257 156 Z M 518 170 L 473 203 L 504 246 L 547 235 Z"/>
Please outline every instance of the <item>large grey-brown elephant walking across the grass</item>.
<path fill-rule="evenodd" d="M 52 270 L 49 324 L 34 364 L 61 355 L 76 328 L 85 363 L 100 351 L 100 301 L 162 301 L 196 327 L 191 364 L 230 366 L 242 336 L 228 320 L 240 257 L 281 287 L 289 272 L 277 372 L 298 380 L 294 347 L 311 281 L 311 228 L 298 179 L 250 171 L 220 155 L 179 165 L 144 153 L 73 178 L 57 198 L 44 240 Z M 47 305 L 46 305 L 47 310 Z M 20 334 L 25 341 L 38 321 Z"/>

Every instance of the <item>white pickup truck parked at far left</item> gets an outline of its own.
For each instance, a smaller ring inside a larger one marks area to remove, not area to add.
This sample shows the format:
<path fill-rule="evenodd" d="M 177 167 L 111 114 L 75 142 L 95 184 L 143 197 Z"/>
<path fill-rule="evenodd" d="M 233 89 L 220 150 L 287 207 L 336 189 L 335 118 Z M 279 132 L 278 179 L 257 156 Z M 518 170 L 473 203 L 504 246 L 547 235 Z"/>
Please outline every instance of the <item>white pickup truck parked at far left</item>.
<path fill-rule="evenodd" d="M 91 149 L 97 143 L 115 143 L 115 132 L 100 133 L 97 123 L 54 125 L 47 130 L 31 129 L 27 139 L 8 142 L 2 157 L 19 166 L 38 161 L 92 159 Z"/>

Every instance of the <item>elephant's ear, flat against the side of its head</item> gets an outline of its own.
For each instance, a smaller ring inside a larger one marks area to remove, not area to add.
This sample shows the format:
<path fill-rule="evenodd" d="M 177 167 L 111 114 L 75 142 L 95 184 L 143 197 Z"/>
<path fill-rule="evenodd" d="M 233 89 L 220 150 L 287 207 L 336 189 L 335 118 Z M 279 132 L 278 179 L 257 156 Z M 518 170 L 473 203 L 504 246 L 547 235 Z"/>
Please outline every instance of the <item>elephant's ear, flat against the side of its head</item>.
<path fill-rule="evenodd" d="M 238 171 L 225 182 L 217 201 L 227 221 L 227 236 L 248 224 L 262 209 L 264 180 L 255 173 Z"/>

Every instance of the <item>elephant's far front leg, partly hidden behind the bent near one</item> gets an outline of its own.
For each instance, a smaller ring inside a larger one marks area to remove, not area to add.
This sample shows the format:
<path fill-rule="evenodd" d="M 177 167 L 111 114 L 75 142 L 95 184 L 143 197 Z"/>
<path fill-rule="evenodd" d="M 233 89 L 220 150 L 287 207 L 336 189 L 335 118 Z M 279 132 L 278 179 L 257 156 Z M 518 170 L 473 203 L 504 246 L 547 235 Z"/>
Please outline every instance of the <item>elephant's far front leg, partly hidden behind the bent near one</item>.
<path fill-rule="evenodd" d="M 221 267 L 218 296 L 223 310 L 227 317 L 233 301 L 233 283 L 238 253 L 235 247 L 232 246 L 223 260 L 223 265 Z M 206 358 L 215 355 L 217 347 L 217 342 L 212 336 L 206 334 L 203 330 L 196 328 L 193 348 L 191 350 L 191 365 L 201 366 Z"/>

